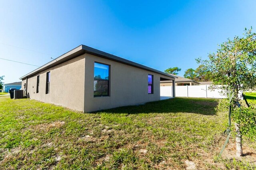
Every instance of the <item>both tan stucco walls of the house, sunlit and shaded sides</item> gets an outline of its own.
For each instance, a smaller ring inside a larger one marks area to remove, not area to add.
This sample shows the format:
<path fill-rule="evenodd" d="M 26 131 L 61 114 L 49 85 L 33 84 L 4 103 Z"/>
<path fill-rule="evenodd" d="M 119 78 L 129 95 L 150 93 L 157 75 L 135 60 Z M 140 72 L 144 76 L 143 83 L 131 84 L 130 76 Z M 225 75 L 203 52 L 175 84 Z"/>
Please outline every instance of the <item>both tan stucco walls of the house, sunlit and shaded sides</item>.
<path fill-rule="evenodd" d="M 94 97 L 94 62 L 110 65 L 110 96 Z M 50 71 L 50 93 L 46 94 L 46 72 Z M 148 74 L 154 75 L 154 94 L 148 94 Z M 39 93 L 36 80 L 40 75 Z M 160 100 L 160 77 L 168 76 L 90 54 L 44 70 L 28 78 L 31 99 L 70 109 L 91 112 Z M 22 89 L 26 79 L 22 80 Z"/>

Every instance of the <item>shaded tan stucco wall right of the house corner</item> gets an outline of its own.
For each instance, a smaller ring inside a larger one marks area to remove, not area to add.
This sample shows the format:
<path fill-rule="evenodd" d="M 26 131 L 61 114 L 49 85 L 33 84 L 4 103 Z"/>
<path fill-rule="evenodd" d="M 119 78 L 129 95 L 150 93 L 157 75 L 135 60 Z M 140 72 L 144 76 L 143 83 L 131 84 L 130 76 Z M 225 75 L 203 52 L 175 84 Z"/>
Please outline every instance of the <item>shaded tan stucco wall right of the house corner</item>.
<path fill-rule="evenodd" d="M 110 96 L 94 97 L 94 62 L 110 65 Z M 86 54 L 84 111 L 91 112 L 160 100 L 160 76 L 168 76 Z M 154 75 L 154 94 L 148 94 L 148 74 Z"/>

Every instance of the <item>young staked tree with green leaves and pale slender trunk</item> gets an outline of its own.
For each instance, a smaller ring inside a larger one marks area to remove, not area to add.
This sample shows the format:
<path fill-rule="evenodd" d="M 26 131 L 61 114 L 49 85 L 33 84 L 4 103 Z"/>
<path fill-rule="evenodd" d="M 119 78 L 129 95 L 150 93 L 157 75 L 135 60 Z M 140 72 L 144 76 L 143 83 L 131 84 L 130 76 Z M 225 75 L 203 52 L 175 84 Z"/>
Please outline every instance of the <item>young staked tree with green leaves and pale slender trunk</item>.
<path fill-rule="evenodd" d="M 210 78 L 214 84 L 222 86 L 227 91 L 228 87 L 234 92 L 232 107 L 238 104 L 238 92 L 251 90 L 256 87 L 256 33 L 252 28 L 247 30 L 243 37 L 234 37 L 222 43 L 216 53 L 208 55 L 208 60 L 197 59 L 198 63 L 206 66 L 211 72 Z M 239 117 L 239 116 L 236 116 Z M 242 135 L 240 123 L 246 120 L 234 119 L 236 127 L 236 155 L 242 156 Z"/>

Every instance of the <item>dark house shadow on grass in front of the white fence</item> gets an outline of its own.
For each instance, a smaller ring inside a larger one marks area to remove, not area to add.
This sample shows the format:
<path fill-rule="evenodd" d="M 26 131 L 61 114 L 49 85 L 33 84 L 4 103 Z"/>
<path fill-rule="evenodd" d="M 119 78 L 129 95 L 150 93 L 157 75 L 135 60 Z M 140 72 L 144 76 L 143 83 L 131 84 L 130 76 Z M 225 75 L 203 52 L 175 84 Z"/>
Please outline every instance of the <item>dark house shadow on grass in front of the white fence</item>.
<path fill-rule="evenodd" d="M 124 106 L 114 109 L 96 111 L 94 113 L 197 113 L 216 115 L 214 107 L 218 105 L 216 99 L 204 98 L 172 98 L 157 102 L 149 102 L 139 106 Z"/>

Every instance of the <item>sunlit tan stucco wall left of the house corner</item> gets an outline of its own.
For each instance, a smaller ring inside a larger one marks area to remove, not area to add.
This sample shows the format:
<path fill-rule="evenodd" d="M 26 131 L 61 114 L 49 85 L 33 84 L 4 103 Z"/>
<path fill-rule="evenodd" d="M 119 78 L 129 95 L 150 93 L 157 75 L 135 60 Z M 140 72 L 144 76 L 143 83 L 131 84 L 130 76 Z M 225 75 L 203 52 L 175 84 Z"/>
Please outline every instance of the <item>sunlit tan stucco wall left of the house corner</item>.
<path fill-rule="evenodd" d="M 84 111 L 85 55 L 42 71 L 28 78 L 27 91 L 31 99 Z M 50 71 L 50 93 L 46 94 L 46 72 Z M 40 75 L 39 93 L 36 80 Z M 24 90 L 26 79 L 22 80 Z"/>

